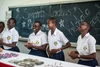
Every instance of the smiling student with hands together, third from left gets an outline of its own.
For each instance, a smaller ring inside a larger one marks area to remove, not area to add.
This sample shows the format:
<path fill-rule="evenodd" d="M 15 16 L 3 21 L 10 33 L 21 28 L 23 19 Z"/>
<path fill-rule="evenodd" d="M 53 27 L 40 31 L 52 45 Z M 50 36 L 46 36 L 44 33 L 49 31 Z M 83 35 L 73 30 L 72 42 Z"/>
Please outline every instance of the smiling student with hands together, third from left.
<path fill-rule="evenodd" d="M 31 49 L 29 54 L 47 57 L 46 46 L 47 46 L 47 35 L 40 29 L 42 27 L 41 22 L 35 21 L 33 24 L 33 33 L 29 35 L 28 42 L 25 47 Z"/>

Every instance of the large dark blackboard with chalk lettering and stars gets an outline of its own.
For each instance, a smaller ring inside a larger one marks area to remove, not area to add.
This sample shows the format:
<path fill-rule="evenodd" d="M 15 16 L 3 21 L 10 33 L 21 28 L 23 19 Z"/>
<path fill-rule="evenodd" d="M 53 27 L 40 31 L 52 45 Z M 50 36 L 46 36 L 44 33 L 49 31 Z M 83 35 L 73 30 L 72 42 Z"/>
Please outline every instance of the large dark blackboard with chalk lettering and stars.
<path fill-rule="evenodd" d="M 34 21 L 42 22 L 42 30 L 47 33 L 47 19 L 55 17 L 58 20 L 57 28 L 71 42 L 77 41 L 77 28 L 80 23 L 89 22 L 93 27 L 90 33 L 100 45 L 100 1 L 11 7 L 9 10 L 12 11 L 12 17 L 17 20 L 16 29 L 22 37 L 28 37 L 32 33 Z"/>

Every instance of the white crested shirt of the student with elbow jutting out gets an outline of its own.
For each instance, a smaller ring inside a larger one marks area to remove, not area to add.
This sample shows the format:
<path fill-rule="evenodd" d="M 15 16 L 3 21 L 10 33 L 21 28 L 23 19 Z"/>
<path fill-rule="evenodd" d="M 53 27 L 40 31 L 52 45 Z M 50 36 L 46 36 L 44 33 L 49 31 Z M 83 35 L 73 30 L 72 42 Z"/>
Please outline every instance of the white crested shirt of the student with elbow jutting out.
<path fill-rule="evenodd" d="M 65 37 L 63 32 L 61 32 L 56 28 L 54 33 L 51 35 L 51 30 L 49 30 L 48 32 L 49 50 L 59 49 L 63 45 L 66 45 L 67 42 L 69 42 L 69 40 Z"/>

